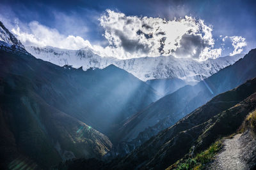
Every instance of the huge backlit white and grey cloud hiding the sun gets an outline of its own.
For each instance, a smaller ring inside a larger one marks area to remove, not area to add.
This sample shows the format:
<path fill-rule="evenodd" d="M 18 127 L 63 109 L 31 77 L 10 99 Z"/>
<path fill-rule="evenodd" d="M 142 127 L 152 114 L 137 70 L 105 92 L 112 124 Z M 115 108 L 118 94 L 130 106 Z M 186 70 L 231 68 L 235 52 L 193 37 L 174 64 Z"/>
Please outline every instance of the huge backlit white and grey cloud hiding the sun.
<path fill-rule="evenodd" d="M 174 55 L 202 60 L 221 54 L 220 48 L 214 48 L 212 26 L 204 20 L 126 16 L 111 10 L 99 20 L 111 48 L 127 52 L 125 58 Z"/>

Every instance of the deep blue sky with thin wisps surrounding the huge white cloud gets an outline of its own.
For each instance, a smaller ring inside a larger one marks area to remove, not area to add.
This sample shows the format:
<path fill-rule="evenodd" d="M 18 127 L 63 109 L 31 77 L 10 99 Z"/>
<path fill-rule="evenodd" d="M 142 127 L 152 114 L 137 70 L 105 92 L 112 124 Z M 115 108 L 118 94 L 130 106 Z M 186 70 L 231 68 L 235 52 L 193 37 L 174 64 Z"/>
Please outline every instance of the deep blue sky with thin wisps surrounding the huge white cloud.
<path fill-rule="evenodd" d="M 256 20 L 255 5 L 255 0 L 1 0 L 0 14 L 8 17 L 7 8 L 4 10 L 3 6 L 9 6 L 15 17 L 23 23 L 36 20 L 42 25 L 58 29 L 65 36 L 70 34 L 81 36 L 95 44 L 104 41 L 106 45 L 108 41 L 102 36 L 104 30 L 99 27 L 97 20 L 106 9 L 122 11 L 129 16 L 161 17 L 167 20 L 191 15 L 204 19 L 206 24 L 213 25 L 214 38 L 220 34 L 243 36 L 248 42 L 244 50 L 247 52 L 255 48 L 256 44 L 256 22 L 253 22 Z M 62 16 L 69 18 L 63 19 Z M 131 20 L 127 20 L 126 24 L 132 24 Z M 87 27 L 88 30 L 84 31 L 83 27 Z M 147 24 L 142 27 L 142 30 L 151 29 Z M 159 35 L 164 35 L 164 32 L 159 32 Z M 145 34 L 145 37 L 150 38 L 150 34 Z M 218 44 L 218 41 L 216 43 Z M 230 53 L 228 50 L 225 51 L 223 55 Z"/>

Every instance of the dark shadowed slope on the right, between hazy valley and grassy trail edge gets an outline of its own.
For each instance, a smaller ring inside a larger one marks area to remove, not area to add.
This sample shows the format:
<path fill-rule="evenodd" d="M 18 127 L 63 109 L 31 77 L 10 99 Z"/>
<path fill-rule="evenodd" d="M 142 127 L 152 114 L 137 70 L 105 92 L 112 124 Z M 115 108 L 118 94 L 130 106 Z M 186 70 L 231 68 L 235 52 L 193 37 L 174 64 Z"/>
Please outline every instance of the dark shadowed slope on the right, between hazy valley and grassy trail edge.
<path fill-rule="evenodd" d="M 246 116 L 255 109 L 256 78 L 214 97 L 204 106 L 182 118 L 172 127 L 159 132 L 125 157 L 114 159 L 109 163 L 101 162 L 98 168 L 165 169 L 185 157 L 186 154 L 200 153 L 217 139 L 237 132 Z M 253 161 L 254 155 L 251 154 L 249 160 Z M 76 162 L 79 163 L 68 162 L 61 168 L 74 165 L 88 167 L 86 160 Z M 251 165 L 253 166 L 253 162 Z"/>

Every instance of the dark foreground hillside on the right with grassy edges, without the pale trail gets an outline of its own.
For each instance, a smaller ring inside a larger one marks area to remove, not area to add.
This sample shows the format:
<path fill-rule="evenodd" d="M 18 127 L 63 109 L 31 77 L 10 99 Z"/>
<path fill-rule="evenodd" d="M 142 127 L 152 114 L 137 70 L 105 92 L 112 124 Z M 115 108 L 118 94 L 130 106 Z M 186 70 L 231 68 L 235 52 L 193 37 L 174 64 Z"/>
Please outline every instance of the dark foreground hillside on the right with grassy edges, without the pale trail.
<path fill-rule="evenodd" d="M 216 143 L 221 143 L 225 137 L 232 138 L 235 134 L 241 134 L 243 148 L 250 146 L 251 149 L 244 150 L 241 159 L 244 159 L 246 169 L 255 169 L 255 92 L 254 78 L 236 89 L 212 98 L 124 157 L 113 159 L 111 162 L 79 159 L 60 164 L 58 168 L 205 169 L 211 163 L 211 159 L 207 157 L 210 150 L 215 149 L 212 147 L 217 145 Z M 221 150 L 221 147 L 218 147 L 218 150 Z"/>

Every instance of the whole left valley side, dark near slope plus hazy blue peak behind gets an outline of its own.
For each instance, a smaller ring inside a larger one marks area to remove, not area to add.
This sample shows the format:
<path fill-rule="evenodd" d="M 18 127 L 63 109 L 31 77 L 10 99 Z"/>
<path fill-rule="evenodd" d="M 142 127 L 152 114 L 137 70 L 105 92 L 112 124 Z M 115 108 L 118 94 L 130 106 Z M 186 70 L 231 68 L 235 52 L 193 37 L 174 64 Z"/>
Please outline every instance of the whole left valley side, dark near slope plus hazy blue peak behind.
<path fill-rule="evenodd" d="M 0 49 L 4 169 L 20 164 L 46 169 L 61 160 L 100 159 L 112 147 L 102 131 L 115 133 L 113 127 L 158 97 L 147 83 L 116 66 L 87 71 L 60 67 L 7 40 Z"/>

